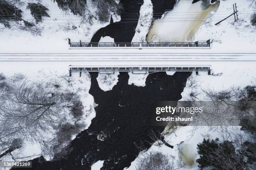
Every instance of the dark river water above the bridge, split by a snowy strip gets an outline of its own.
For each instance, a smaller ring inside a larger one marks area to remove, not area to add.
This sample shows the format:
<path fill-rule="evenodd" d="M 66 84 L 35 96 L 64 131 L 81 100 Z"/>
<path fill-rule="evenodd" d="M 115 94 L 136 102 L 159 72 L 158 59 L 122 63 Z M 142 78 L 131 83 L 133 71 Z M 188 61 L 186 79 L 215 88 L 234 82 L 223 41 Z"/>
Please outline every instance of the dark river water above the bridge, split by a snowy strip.
<path fill-rule="evenodd" d="M 154 10 L 154 18 L 161 18 L 165 10 L 173 9 L 176 0 L 151 0 Z M 92 37 L 91 42 L 99 42 L 101 37 L 110 36 L 115 42 L 131 42 L 138 25 L 141 5 L 143 0 L 120 0 L 123 12 L 120 14 L 121 20 L 110 23 L 98 30 Z"/>

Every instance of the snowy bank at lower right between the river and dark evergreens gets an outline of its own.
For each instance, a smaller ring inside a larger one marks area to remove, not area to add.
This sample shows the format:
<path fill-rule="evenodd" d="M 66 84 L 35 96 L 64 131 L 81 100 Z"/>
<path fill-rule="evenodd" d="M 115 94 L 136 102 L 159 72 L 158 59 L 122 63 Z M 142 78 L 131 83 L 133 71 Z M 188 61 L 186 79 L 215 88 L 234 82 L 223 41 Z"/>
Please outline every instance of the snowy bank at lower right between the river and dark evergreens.
<path fill-rule="evenodd" d="M 131 163 L 131 166 L 129 168 L 124 168 L 124 170 L 136 170 L 136 164 L 139 161 L 139 158 L 143 158 L 143 154 L 147 153 L 156 153 L 161 152 L 164 155 L 172 155 L 177 159 L 180 159 L 180 150 L 182 148 L 186 148 L 187 155 L 191 156 L 193 160 L 196 160 L 199 158 L 199 155 L 197 154 L 197 144 L 202 142 L 203 138 L 207 138 L 205 136 L 208 135 L 208 137 L 215 139 L 219 138 L 220 140 L 223 140 L 222 136 L 220 135 L 218 130 L 215 131 L 209 131 L 209 128 L 207 126 L 201 126 L 197 127 L 197 130 L 194 130 L 193 126 L 184 126 L 184 127 L 178 127 L 177 130 L 174 131 L 174 133 L 170 133 L 168 135 L 165 135 L 165 140 L 174 146 L 174 148 L 169 148 L 166 145 L 161 145 L 161 147 L 158 147 L 156 145 L 152 145 L 149 150 L 141 151 L 141 153 L 138 155 L 136 160 L 134 160 Z M 230 127 L 230 131 L 236 131 L 240 130 L 239 126 Z M 176 163 L 174 163 L 174 167 L 176 166 Z M 197 163 L 195 165 L 189 166 L 184 168 L 184 170 L 198 170 Z"/>

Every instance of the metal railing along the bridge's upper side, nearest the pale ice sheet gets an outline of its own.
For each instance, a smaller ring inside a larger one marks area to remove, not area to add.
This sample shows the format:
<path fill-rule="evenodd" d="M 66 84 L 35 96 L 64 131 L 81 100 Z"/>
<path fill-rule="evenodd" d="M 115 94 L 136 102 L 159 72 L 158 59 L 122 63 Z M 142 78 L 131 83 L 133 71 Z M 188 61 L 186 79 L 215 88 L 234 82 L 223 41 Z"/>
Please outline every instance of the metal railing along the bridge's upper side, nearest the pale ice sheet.
<path fill-rule="evenodd" d="M 206 47 L 210 40 L 196 42 L 69 42 L 70 47 Z"/>

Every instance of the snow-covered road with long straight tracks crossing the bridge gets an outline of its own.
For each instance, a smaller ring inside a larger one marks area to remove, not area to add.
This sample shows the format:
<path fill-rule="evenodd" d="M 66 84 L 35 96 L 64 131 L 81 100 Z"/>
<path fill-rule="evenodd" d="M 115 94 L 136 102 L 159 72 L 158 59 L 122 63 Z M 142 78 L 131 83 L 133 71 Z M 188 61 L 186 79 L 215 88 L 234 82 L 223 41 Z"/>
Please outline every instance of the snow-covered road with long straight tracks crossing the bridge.
<path fill-rule="evenodd" d="M 1 53 L 0 62 L 52 62 L 52 61 L 84 61 L 87 65 L 97 65 L 101 62 L 126 62 L 133 64 L 140 62 L 140 65 L 151 65 L 152 62 L 218 62 L 218 61 L 256 61 L 256 53 L 229 53 L 229 52 L 88 52 L 88 53 Z M 89 63 L 90 62 L 90 63 Z M 173 63 L 172 63 L 173 64 Z M 176 63 L 179 64 L 179 63 Z M 189 63 L 188 63 L 189 64 Z M 81 64 L 80 64 L 81 65 Z M 153 63 L 154 65 L 154 63 Z"/>

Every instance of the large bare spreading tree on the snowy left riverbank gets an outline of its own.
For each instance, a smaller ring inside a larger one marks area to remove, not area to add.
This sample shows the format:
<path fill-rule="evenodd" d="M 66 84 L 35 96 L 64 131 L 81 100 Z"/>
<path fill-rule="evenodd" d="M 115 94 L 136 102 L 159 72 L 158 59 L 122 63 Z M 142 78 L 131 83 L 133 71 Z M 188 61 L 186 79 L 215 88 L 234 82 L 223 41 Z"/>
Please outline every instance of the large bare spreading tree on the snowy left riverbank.
<path fill-rule="evenodd" d="M 1 157 L 21 148 L 23 140 L 44 140 L 42 134 L 58 127 L 75 98 L 74 93 L 52 92 L 47 84 L 28 80 L 7 84 L 0 94 Z"/>

